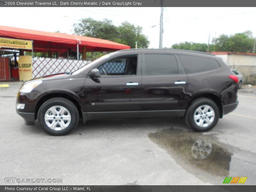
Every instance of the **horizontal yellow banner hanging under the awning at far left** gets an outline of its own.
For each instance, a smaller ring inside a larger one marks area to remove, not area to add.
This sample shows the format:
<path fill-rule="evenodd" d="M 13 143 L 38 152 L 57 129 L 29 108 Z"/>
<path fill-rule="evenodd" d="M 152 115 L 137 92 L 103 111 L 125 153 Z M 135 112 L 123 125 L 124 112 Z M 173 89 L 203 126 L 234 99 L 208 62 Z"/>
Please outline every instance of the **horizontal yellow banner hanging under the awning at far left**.
<path fill-rule="evenodd" d="M 0 37 L 0 47 L 32 50 L 32 41 Z"/>

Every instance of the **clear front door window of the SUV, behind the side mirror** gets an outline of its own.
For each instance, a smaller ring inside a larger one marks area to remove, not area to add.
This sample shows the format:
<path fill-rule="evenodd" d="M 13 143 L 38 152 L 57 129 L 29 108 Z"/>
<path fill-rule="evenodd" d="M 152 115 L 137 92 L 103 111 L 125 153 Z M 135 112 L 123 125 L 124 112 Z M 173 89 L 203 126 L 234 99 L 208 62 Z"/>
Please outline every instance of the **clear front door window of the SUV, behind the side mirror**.
<path fill-rule="evenodd" d="M 99 67 L 100 75 L 136 75 L 137 73 L 137 56 L 119 57 L 109 60 Z"/>

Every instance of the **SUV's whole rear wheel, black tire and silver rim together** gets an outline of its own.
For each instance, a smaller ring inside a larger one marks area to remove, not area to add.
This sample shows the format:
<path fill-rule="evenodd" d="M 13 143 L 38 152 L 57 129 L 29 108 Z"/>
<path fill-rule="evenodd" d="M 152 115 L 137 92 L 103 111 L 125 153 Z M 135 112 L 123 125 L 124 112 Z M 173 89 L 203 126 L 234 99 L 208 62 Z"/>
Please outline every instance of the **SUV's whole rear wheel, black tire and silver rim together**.
<path fill-rule="evenodd" d="M 211 130 L 219 120 L 220 112 L 216 103 L 207 98 L 198 98 L 188 107 L 186 124 L 196 132 Z"/>

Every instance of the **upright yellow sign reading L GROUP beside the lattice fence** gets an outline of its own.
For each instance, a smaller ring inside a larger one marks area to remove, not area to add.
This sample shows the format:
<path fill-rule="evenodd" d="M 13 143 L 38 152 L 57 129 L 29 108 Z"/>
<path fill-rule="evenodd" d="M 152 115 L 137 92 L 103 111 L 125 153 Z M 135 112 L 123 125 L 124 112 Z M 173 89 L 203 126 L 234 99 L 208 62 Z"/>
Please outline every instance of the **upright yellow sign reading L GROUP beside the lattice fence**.
<path fill-rule="evenodd" d="M 33 62 L 32 56 L 19 57 L 19 76 L 20 81 L 27 81 L 32 79 Z"/>

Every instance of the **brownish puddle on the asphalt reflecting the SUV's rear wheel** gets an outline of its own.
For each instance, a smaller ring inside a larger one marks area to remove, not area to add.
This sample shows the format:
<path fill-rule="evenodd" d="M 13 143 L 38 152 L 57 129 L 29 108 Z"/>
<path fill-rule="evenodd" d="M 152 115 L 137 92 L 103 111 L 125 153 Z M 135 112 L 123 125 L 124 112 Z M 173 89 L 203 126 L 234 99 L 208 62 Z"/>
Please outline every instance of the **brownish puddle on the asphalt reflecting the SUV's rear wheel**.
<path fill-rule="evenodd" d="M 216 176 L 219 176 L 218 180 L 224 180 L 229 175 L 233 154 L 212 136 L 171 128 L 150 133 L 149 138 L 171 154 L 185 170 L 202 180 L 205 180 L 205 173 L 214 176 L 208 177 L 208 182 L 216 180 Z"/>

